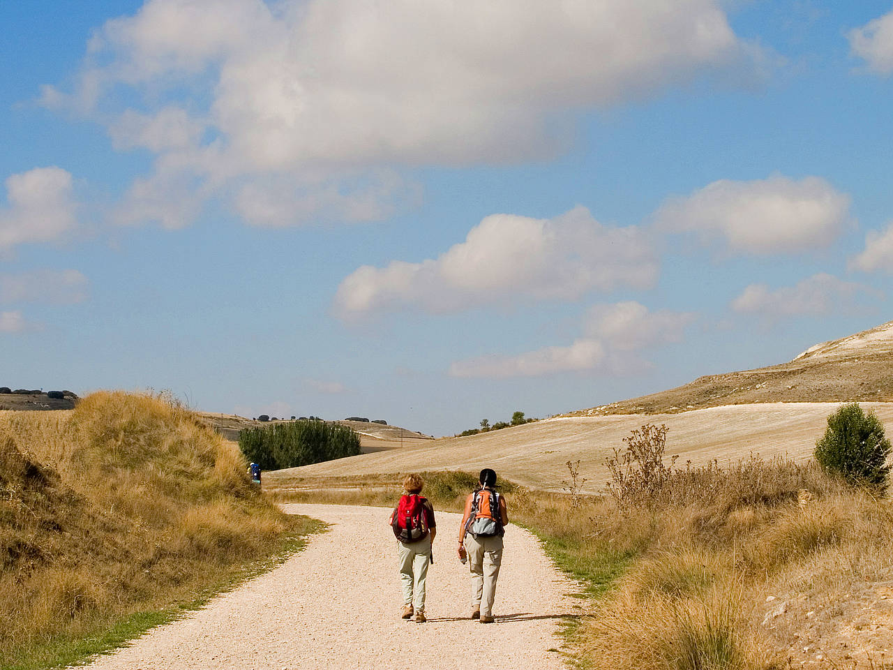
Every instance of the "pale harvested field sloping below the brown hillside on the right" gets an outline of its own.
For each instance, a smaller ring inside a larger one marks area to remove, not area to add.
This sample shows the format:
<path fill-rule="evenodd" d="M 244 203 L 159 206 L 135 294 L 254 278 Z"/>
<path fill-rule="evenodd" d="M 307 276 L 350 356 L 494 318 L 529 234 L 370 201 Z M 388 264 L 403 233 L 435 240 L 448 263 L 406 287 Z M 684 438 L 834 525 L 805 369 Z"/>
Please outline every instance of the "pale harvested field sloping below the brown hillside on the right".
<path fill-rule="evenodd" d="M 862 403 L 873 409 L 893 433 L 893 403 Z M 827 417 L 839 403 L 765 403 L 708 407 L 670 415 L 574 416 L 528 423 L 467 438 L 436 440 L 421 447 L 361 454 L 338 461 L 305 465 L 267 475 L 267 482 L 288 486 L 295 477 L 396 473 L 417 470 L 480 470 L 493 467 L 515 482 L 561 490 L 568 479 L 565 463 L 580 459 L 589 492 L 602 490 L 608 473 L 605 457 L 623 446 L 623 438 L 643 423 L 665 423 L 667 456 L 677 465 L 721 463 L 747 457 L 788 454 L 811 456 L 825 431 Z"/>

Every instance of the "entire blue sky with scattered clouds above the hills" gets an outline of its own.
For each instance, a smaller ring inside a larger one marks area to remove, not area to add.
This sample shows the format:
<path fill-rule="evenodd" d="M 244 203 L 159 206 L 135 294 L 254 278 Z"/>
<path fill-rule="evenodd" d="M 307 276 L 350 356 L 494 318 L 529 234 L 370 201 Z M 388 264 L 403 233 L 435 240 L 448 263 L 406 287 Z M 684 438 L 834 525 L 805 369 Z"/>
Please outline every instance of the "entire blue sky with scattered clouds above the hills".
<path fill-rule="evenodd" d="M 0 385 L 442 435 L 893 318 L 889 0 L 0 26 Z"/>

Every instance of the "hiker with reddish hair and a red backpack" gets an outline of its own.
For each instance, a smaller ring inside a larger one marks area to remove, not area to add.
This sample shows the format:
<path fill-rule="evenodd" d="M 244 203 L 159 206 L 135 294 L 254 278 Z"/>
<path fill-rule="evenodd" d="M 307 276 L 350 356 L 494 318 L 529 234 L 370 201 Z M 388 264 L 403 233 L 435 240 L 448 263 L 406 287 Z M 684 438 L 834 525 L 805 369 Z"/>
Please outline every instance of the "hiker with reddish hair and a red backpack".
<path fill-rule="evenodd" d="M 400 565 L 400 584 L 403 588 L 403 618 L 415 615 L 419 624 L 425 622 L 425 578 L 428 566 L 434 562 L 431 544 L 438 529 L 434 521 L 434 507 L 421 497 L 425 482 L 418 474 L 407 474 L 403 480 L 404 494 L 390 515 L 391 528 L 397 541 Z"/>

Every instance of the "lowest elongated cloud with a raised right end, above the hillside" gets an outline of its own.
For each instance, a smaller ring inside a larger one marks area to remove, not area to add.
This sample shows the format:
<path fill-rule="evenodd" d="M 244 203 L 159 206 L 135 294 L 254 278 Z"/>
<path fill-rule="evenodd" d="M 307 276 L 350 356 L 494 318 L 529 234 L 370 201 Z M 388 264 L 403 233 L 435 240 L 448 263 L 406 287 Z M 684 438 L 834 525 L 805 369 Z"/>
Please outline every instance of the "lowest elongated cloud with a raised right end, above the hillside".
<path fill-rule="evenodd" d="M 695 314 L 651 313 L 638 302 L 593 306 L 585 337 L 567 347 L 546 347 L 517 356 L 480 356 L 450 365 L 452 377 L 541 377 L 557 373 L 631 373 L 649 367 L 637 353 L 680 341 Z"/>

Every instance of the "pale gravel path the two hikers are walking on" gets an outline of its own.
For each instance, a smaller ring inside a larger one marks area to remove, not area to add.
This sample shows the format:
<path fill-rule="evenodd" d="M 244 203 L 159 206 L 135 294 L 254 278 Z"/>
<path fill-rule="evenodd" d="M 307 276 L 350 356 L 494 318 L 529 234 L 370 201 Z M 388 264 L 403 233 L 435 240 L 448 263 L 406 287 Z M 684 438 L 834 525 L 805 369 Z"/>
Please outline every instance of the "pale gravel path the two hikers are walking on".
<path fill-rule="evenodd" d="M 455 557 L 459 515 L 438 513 L 428 573 L 428 623 L 399 617 L 402 605 L 389 510 L 285 505 L 331 524 L 270 573 L 204 609 L 100 657 L 94 670 L 469 667 L 558 670 L 561 617 L 577 614 L 575 584 L 559 574 L 529 532 L 505 531 L 496 624 L 468 618 L 468 568 Z"/>

